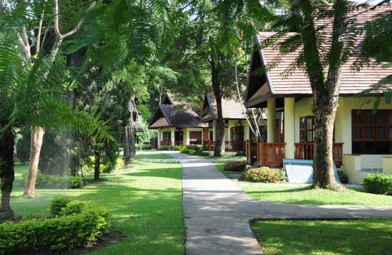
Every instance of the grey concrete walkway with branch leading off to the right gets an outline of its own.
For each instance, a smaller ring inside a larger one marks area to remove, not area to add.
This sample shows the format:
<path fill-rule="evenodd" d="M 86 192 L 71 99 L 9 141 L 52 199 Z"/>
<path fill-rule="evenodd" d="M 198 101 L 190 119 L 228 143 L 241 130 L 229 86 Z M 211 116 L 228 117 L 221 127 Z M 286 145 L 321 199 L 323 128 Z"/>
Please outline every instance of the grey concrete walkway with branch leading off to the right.
<path fill-rule="evenodd" d="M 263 254 L 253 218 L 392 218 L 392 206 L 280 204 L 250 198 L 208 159 L 164 152 L 183 162 L 187 255 Z"/>

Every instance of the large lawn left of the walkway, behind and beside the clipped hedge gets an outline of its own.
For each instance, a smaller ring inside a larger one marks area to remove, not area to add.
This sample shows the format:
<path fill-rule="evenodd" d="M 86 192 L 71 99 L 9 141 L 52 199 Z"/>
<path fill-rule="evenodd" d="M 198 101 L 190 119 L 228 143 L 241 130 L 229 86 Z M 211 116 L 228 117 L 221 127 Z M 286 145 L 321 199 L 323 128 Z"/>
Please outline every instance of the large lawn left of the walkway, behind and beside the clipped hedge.
<path fill-rule="evenodd" d="M 16 215 L 49 215 L 54 196 L 97 201 L 110 212 L 108 222 L 123 233 L 120 243 L 91 254 L 185 254 L 185 223 L 182 208 L 182 166 L 179 163 L 135 162 L 127 169 L 101 174 L 104 181 L 82 189 L 37 189 L 38 198 L 20 197 L 24 192 L 17 167 L 11 208 Z M 92 175 L 86 175 L 92 179 Z"/>

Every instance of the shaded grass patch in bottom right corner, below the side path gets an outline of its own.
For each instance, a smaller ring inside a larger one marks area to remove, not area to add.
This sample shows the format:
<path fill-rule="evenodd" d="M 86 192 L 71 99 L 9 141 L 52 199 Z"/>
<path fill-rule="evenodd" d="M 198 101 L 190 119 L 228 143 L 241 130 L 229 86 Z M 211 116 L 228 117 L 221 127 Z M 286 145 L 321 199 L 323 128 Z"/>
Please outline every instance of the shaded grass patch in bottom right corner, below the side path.
<path fill-rule="evenodd" d="M 266 255 L 392 254 L 392 219 L 258 221 L 251 229 Z"/>

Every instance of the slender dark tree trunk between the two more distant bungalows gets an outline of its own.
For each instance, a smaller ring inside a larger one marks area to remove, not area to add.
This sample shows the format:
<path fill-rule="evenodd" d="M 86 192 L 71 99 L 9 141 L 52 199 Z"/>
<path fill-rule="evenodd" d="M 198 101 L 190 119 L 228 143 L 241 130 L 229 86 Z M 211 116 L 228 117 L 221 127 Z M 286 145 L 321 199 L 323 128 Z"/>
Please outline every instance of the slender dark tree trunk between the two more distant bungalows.
<path fill-rule="evenodd" d="M 214 156 L 220 157 L 221 156 L 221 147 L 224 140 L 224 122 L 223 122 L 223 115 L 222 115 L 222 96 L 221 96 L 221 87 L 220 82 L 217 77 L 217 69 L 215 66 L 215 61 L 211 61 L 211 81 L 212 81 L 212 88 L 214 90 L 214 97 L 217 101 L 217 113 L 218 113 L 218 138 L 217 143 L 215 144 L 215 151 Z"/>

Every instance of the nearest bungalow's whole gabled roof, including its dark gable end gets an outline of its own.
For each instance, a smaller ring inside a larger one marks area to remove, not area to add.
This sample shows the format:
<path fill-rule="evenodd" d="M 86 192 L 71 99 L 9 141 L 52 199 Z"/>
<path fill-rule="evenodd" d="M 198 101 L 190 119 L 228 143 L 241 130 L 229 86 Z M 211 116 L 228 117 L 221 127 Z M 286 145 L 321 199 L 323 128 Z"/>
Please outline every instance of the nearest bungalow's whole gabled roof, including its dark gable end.
<path fill-rule="evenodd" d="M 364 23 L 371 20 L 375 14 L 390 9 L 391 7 L 382 5 L 372 12 L 361 13 L 356 16 L 356 23 Z M 354 16 L 354 14 L 355 13 L 352 13 L 351 16 Z M 325 24 L 328 25 L 322 30 L 322 33 L 325 33 L 326 35 L 325 44 L 323 46 L 328 47 L 327 45 L 330 44 L 332 36 L 331 20 L 325 19 L 315 21 L 316 26 Z M 259 33 L 256 35 L 257 44 L 263 44 L 264 41 L 274 34 L 274 32 Z M 287 70 L 291 66 L 294 66 L 294 61 L 299 55 L 299 52 L 302 51 L 303 46 L 292 53 L 283 56 L 280 56 L 279 54 L 278 44 L 294 34 L 295 33 L 288 33 L 272 45 L 252 53 L 250 65 L 251 72 L 254 72 L 257 68 L 262 66 L 275 66 L 273 68 L 267 68 L 266 74 L 262 76 L 248 77 L 245 96 L 246 107 L 263 107 L 264 105 L 261 105 L 261 103 L 270 98 L 302 98 L 312 96 L 312 89 L 306 72 L 298 68 L 293 68 L 290 73 L 287 73 Z M 358 44 L 359 42 L 357 43 L 357 46 Z M 360 49 L 356 47 L 353 54 L 342 67 L 340 94 L 343 96 L 360 93 L 370 88 L 371 85 L 377 83 L 381 78 L 391 74 L 391 69 L 382 69 L 380 65 L 375 65 L 374 61 L 371 61 L 368 67 L 364 67 L 359 72 L 352 71 L 350 66 L 357 59 L 359 51 Z"/>

